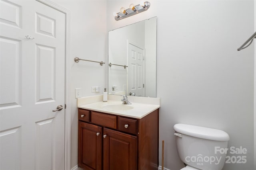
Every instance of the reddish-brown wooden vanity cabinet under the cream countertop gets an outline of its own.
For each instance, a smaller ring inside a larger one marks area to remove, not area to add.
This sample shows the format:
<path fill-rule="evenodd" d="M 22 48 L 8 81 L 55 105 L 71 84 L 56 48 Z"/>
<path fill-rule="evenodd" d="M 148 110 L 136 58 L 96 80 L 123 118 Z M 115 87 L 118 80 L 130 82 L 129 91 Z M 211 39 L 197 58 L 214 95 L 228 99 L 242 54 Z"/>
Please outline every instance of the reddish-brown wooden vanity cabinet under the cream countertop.
<path fill-rule="evenodd" d="M 158 109 L 135 119 L 79 108 L 78 120 L 80 168 L 158 170 Z"/>

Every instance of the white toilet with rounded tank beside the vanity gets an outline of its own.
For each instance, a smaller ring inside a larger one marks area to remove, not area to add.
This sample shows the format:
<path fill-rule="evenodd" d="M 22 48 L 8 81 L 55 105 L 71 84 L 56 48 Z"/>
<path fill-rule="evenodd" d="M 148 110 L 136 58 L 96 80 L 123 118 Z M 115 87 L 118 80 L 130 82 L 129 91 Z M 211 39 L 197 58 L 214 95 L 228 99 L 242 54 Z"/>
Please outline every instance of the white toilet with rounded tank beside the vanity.
<path fill-rule="evenodd" d="M 187 165 L 181 170 L 221 170 L 228 152 L 228 133 L 207 127 L 174 125 L 180 159 Z"/>

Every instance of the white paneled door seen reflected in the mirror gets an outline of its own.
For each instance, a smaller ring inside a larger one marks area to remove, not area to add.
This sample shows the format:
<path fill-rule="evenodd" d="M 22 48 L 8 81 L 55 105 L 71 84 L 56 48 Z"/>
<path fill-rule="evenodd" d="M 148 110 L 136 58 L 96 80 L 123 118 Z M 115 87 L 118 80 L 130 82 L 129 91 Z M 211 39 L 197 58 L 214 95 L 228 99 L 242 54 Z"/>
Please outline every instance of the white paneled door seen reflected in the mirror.
<path fill-rule="evenodd" d="M 144 50 L 128 43 L 128 94 L 145 96 Z"/>

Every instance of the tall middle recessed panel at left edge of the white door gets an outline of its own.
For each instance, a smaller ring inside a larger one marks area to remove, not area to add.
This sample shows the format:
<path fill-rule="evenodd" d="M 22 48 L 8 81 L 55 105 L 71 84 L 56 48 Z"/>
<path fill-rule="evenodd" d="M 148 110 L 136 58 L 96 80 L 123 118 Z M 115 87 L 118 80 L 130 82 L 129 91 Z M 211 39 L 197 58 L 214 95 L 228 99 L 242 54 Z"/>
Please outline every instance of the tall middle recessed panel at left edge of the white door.
<path fill-rule="evenodd" d="M 21 41 L 0 37 L 0 108 L 20 106 Z M 6 93 L 8 92 L 8 93 Z"/>

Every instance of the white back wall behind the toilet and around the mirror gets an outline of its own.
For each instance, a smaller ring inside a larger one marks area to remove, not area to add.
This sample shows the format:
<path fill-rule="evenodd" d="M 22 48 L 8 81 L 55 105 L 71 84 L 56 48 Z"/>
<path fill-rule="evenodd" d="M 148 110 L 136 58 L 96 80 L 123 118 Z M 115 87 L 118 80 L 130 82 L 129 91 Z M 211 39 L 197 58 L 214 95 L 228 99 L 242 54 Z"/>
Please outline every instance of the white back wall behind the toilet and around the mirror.
<path fill-rule="evenodd" d="M 246 164 L 226 164 L 224 170 L 252 170 L 254 47 L 236 49 L 254 32 L 254 1 L 150 0 L 148 11 L 115 21 L 112 12 L 131 3 L 139 1 L 107 2 L 107 30 L 157 16 L 159 141 L 165 141 L 165 167 L 183 166 L 173 125 L 187 123 L 222 129 L 230 135 L 229 147 L 248 150 Z"/>

